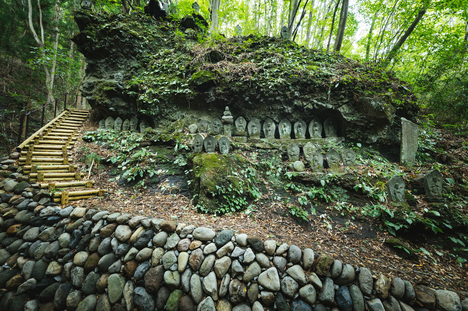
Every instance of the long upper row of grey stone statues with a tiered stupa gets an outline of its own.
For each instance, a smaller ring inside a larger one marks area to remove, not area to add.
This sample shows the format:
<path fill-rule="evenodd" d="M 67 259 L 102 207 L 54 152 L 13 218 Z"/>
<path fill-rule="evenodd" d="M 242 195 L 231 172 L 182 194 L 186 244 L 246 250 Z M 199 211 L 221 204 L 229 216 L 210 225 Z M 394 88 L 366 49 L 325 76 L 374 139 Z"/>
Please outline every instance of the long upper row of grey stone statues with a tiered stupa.
<path fill-rule="evenodd" d="M 234 133 L 232 132 L 233 124 L 235 125 Z M 307 131 L 310 138 L 322 138 L 322 131 L 325 132 L 325 137 L 327 138 L 337 136 L 338 122 L 334 118 L 329 117 L 325 122 L 323 122 L 322 126 L 322 122 L 315 118 L 307 126 L 307 123 L 304 120 L 298 120 L 294 125 L 292 125 L 289 120 L 283 119 L 279 121 L 277 126 L 273 120 L 267 119 L 263 122 L 262 126 L 260 120 L 252 119 L 247 123 L 247 120 L 245 120 L 244 117 L 239 117 L 234 122 L 234 118 L 229 111 L 229 107 L 226 107 L 224 116 L 221 120 L 214 118 L 210 123 L 208 123 L 208 121 L 201 119 L 197 125 L 192 124 L 189 126 L 189 132 L 192 134 L 197 132 L 220 134 L 224 129 L 224 135 L 227 137 L 247 137 L 249 135 L 250 138 L 260 138 L 263 129 L 265 138 L 275 138 L 277 128 L 280 139 L 290 139 L 292 130 L 296 139 L 305 139 Z"/>

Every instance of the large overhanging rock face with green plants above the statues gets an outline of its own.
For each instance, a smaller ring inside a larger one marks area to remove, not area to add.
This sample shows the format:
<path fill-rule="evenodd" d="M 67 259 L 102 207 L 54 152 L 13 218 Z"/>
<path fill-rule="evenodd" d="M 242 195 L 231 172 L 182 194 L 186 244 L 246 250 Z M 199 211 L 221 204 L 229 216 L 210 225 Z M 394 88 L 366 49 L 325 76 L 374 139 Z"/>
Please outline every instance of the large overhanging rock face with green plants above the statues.
<path fill-rule="evenodd" d="M 197 16 L 197 19 L 205 22 L 200 15 L 195 13 L 194 15 Z M 277 73 L 278 64 L 266 56 L 257 60 L 267 63 L 263 66 L 265 72 L 257 75 L 259 84 L 262 84 L 263 81 L 266 82 L 269 77 L 288 77 L 281 85 L 275 86 L 272 89 L 273 92 L 268 88 L 255 90 L 254 85 L 249 84 L 249 81 L 244 81 L 241 75 L 218 74 L 215 78 L 214 72 L 207 70 L 203 65 L 206 62 L 214 61 L 212 57 L 214 50 L 210 52 L 210 56 L 200 55 L 200 59 L 203 59 L 202 64 L 188 65 L 187 57 L 184 54 L 190 53 L 190 48 L 185 48 L 184 43 L 171 40 L 175 37 L 175 29 L 164 28 L 163 24 L 160 24 L 159 21 L 154 22 L 148 16 L 131 15 L 123 20 L 118 15 L 95 14 L 83 9 L 75 12 L 74 20 L 80 28 L 80 33 L 72 40 L 77 44 L 79 51 L 89 59 L 86 78 L 83 82 L 83 93 L 88 97 L 90 105 L 103 113 L 104 118 L 112 116 L 113 118 L 120 117 L 122 120 L 130 120 L 136 116 L 139 122 L 144 120 L 151 127 L 158 124 L 170 125 L 178 120 L 179 117 L 176 116 L 183 116 L 188 112 L 186 91 L 179 90 L 189 88 L 189 92 L 193 94 L 190 99 L 190 117 L 187 114 L 186 117 L 179 120 L 179 123 L 198 124 L 201 118 L 205 120 L 219 118 L 223 115 L 225 106 L 234 104 L 232 106 L 235 108 L 231 110 L 234 119 L 244 116 L 247 120 L 258 119 L 262 124 L 267 119 L 271 119 L 275 124 L 285 118 L 292 120 L 293 123 L 303 119 L 309 124 L 317 118 L 323 124 L 328 117 L 332 116 L 338 120 L 338 135 L 346 136 L 347 140 L 367 139 L 371 143 L 378 141 L 397 145 L 398 126 L 393 120 L 397 116 L 411 117 L 417 110 L 415 106 L 410 104 L 411 92 L 405 92 L 403 88 L 400 88 L 402 91 L 396 91 L 392 95 L 392 97 L 402 100 L 403 105 L 399 106 L 401 109 L 395 109 L 395 106 L 386 97 L 367 97 L 368 95 L 358 88 L 351 88 L 340 81 L 328 94 L 328 88 L 315 86 L 322 85 L 322 80 L 317 77 L 323 77 L 323 81 L 329 83 L 332 76 L 328 73 L 328 68 L 318 75 L 311 73 L 298 78 L 292 74 L 297 68 L 287 64 L 282 64 L 280 73 Z M 133 26 L 135 23 L 138 23 L 138 28 Z M 190 15 L 184 17 L 180 25 L 182 31 L 187 28 L 199 30 L 194 22 L 194 17 Z M 108 28 L 115 29 L 116 27 L 124 30 L 116 31 L 110 36 Z M 162 30 L 163 28 L 164 30 Z M 146 40 L 148 37 L 161 38 L 164 45 L 159 41 Z M 271 39 L 268 44 L 263 44 L 268 39 L 270 38 L 251 39 L 255 41 L 254 44 L 242 42 L 240 45 L 249 51 L 255 51 L 261 57 L 263 54 L 270 55 L 278 49 L 286 52 L 281 40 Z M 196 36 L 193 39 L 187 37 L 186 40 L 196 40 Z M 244 41 L 247 40 L 244 38 Z M 176 46 L 176 44 L 182 44 L 182 47 Z M 234 43 L 227 41 L 225 44 L 232 45 Z M 165 49 L 165 52 L 159 53 L 162 49 Z M 224 62 L 227 62 L 228 66 L 237 66 L 234 59 L 242 58 L 243 54 L 247 53 L 243 50 L 244 48 L 236 49 L 235 57 L 229 55 L 224 59 Z M 297 57 L 301 64 L 304 63 L 304 71 L 307 71 L 307 66 L 315 66 L 325 56 L 327 56 L 327 63 L 332 68 L 337 63 L 342 62 L 341 57 L 303 50 L 293 42 L 288 44 L 287 51 L 290 53 L 290 58 Z M 145 55 L 161 56 L 153 60 Z M 191 59 L 193 57 L 190 57 Z M 219 59 L 219 57 L 214 57 L 214 59 Z M 164 92 L 144 92 L 135 96 L 135 92 L 139 92 L 144 86 L 143 84 L 139 85 L 132 77 L 142 77 L 147 87 L 152 88 L 152 80 L 146 77 L 162 78 L 163 72 L 147 70 L 146 68 L 153 68 L 155 64 L 164 66 L 166 63 L 172 64 L 173 62 L 178 63 L 179 68 L 189 68 L 188 76 L 164 75 L 164 81 L 167 83 L 167 86 L 164 86 Z M 365 75 L 358 72 L 358 68 L 361 68 L 362 64 L 357 62 L 350 64 L 351 75 L 357 74 L 366 78 Z M 223 67 L 219 72 L 228 71 L 227 68 L 231 67 Z M 275 68 L 275 71 L 270 71 L 269 68 Z M 336 75 L 340 76 L 341 73 L 336 73 Z M 119 78 L 115 78 L 117 76 Z M 377 85 L 374 83 L 367 91 L 387 92 L 390 82 L 404 85 L 403 81 L 398 81 L 394 77 L 385 77 L 379 75 L 383 82 Z M 189 81 L 188 85 L 187 81 Z M 291 92 L 290 87 L 296 88 L 296 90 Z M 153 105 L 152 99 L 156 100 L 158 105 Z M 210 111 L 204 109 L 206 102 L 210 103 Z M 269 109 L 264 109 L 266 103 L 268 103 Z M 139 111 L 147 111 L 148 114 L 145 115 Z M 395 129 L 395 127 L 397 128 Z M 302 136 L 306 133 L 306 128 L 303 128 L 302 133 L 297 133 Z"/>

